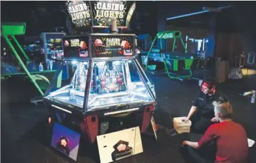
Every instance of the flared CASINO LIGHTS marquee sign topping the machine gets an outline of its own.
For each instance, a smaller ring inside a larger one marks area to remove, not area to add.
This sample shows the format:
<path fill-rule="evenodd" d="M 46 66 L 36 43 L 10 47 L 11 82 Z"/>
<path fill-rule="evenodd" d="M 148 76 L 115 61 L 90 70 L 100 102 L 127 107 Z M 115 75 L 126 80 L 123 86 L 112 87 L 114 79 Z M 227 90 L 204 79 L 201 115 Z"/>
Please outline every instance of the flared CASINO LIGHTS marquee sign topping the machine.
<path fill-rule="evenodd" d="M 117 26 L 129 26 L 135 10 L 132 1 L 67 1 L 67 11 L 74 25 L 110 26 L 116 18 Z"/>

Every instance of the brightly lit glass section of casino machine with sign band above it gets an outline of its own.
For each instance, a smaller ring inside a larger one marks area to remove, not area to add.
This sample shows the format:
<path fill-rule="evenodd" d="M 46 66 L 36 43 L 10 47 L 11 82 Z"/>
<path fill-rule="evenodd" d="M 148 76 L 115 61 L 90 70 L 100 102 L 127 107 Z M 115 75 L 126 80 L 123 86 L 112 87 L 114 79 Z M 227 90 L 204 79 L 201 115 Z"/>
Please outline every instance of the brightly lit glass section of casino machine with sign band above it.
<path fill-rule="evenodd" d="M 64 60 L 44 95 L 48 107 L 72 113 L 155 104 L 154 85 L 135 55 L 134 34 L 63 38 Z M 67 80 L 62 69 L 67 66 Z"/>

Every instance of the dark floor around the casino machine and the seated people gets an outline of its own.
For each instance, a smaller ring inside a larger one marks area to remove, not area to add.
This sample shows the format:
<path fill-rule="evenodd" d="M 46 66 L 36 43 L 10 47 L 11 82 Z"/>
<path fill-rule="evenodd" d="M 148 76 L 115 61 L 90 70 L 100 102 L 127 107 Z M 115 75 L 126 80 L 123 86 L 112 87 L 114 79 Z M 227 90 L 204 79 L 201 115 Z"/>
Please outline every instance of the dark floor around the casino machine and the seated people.
<path fill-rule="evenodd" d="M 171 128 L 170 115 L 186 116 L 191 102 L 199 91 L 196 81 L 173 81 L 166 76 L 151 76 L 157 94 L 155 121 Z M 29 103 L 30 97 L 37 96 L 33 85 L 24 87 L 17 81 L 1 82 L 1 161 L 2 162 L 72 162 L 46 147 L 47 109 L 43 105 Z M 30 88 L 30 89 L 28 89 Z M 256 89 L 256 75 L 247 76 L 241 81 L 219 84 L 218 89 L 228 95 L 235 109 L 234 121 L 241 123 L 248 138 L 256 140 L 256 104 L 249 97 L 241 97 L 240 92 Z M 14 102 L 15 101 L 15 102 Z M 11 103 L 12 102 L 12 103 Z M 14 103 L 13 103 L 14 102 Z M 199 135 L 192 135 L 198 139 Z M 167 137 L 158 133 L 158 142 L 148 135 L 142 135 L 144 152 L 116 162 L 186 162 L 179 152 L 181 137 Z M 99 162 L 97 149 L 82 151 L 77 162 Z M 87 152 L 87 153 L 86 153 Z M 249 161 L 256 162 L 256 147 L 249 149 Z"/>

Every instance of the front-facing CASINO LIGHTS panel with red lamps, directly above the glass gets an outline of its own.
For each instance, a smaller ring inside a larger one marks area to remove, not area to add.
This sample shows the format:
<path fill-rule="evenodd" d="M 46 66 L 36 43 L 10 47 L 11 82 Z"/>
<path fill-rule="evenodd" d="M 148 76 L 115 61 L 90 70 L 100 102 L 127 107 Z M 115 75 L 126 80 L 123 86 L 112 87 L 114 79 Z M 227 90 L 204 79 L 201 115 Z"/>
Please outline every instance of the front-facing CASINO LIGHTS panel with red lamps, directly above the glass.
<path fill-rule="evenodd" d="M 94 57 L 131 56 L 133 36 L 92 36 Z"/>

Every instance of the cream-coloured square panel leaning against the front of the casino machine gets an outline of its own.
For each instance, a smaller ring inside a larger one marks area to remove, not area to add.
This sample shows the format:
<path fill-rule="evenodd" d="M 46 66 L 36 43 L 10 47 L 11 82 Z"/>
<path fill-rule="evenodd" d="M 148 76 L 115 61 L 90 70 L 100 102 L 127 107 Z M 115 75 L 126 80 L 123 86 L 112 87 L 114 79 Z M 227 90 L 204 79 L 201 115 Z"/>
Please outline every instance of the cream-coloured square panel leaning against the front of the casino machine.
<path fill-rule="evenodd" d="M 101 163 L 118 161 L 143 152 L 140 127 L 99 135 L 97 141 Z"/>

